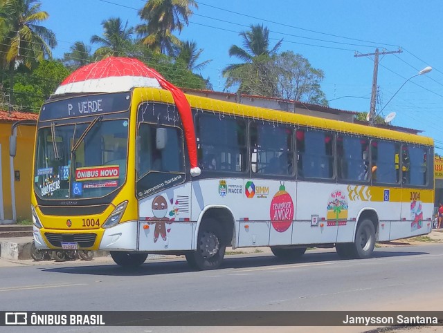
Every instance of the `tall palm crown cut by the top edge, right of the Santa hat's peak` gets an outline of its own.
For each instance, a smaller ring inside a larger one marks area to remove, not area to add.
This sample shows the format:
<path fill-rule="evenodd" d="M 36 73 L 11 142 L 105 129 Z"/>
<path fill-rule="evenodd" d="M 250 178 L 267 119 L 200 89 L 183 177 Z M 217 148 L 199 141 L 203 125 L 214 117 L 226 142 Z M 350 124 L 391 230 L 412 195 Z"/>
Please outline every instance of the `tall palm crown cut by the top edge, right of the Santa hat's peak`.
<path fill-rule="evenodd" d="M 180 33 L 183 24 L 188 26 L 188 18 L 192 15 L 191 7 L 198 8 L 195 0 L 146 1 L 138 15 L 147 23 L 136 26 L 141 42 L 156 52 L 171 55 L 173 46 L 180 44 L 172 32 L 178 30 Z"/>

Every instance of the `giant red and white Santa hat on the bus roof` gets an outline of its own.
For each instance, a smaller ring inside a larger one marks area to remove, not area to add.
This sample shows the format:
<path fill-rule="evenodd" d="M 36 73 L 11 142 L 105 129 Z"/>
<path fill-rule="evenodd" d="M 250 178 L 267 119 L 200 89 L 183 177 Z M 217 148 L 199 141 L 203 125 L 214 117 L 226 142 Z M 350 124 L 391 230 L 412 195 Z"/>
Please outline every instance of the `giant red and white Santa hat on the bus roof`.
<path fill-rule="evenodd" d="M 197 162 L 197 142 L 191 108 L 183 92 L 166 81 L 156 70 L 138 59 L 108 57 L 75 70 L 66 77 L 54 95 L 66 93 L 118 93 L 134 87 L 163 88 L 172 93 L 179 110 L 191 167 L 191 175 L 201 173 Z"/>

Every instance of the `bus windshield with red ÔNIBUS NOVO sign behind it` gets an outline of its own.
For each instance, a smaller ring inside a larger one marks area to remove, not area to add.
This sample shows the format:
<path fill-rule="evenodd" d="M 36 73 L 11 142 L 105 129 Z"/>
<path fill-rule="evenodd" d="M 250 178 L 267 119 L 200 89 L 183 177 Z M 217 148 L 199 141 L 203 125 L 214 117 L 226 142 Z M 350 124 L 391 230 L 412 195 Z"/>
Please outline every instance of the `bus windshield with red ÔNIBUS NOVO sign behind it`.
<path fill-rule="evenodd" d="M 128 120 L 41 127 L 34 189 L 44 200 L 100 198 L 125 182 Z"/>

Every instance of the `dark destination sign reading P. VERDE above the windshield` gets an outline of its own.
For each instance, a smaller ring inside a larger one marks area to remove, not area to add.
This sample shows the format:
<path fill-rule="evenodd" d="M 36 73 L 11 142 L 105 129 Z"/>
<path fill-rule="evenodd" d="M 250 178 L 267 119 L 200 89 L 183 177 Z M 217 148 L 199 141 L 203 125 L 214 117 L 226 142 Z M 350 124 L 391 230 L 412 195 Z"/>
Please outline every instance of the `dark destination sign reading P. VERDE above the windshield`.
<path fill-rule="evenodd" d="M 40 111 L 39 120 L 56 120 L 87 117 L 127 111 L 131 99 L 129 93 L 98 94 L 48 102 Z"/>

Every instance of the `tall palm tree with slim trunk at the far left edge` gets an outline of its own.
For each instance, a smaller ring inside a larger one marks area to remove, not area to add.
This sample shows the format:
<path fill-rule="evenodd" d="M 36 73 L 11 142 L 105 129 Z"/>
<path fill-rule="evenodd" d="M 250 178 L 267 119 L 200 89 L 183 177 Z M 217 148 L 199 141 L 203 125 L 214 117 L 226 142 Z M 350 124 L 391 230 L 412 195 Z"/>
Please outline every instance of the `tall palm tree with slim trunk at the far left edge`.
<path fill-rule="evenodd" d="M 30 68 L 39 60 L 51 58 L 51 48 L 57 46 L 54 32 L 39 25 L 49 17 L 40 6 L 37 0 L 0 1 L 1 66 L 9 67 L 11 104 L 16 61 Z"/>

